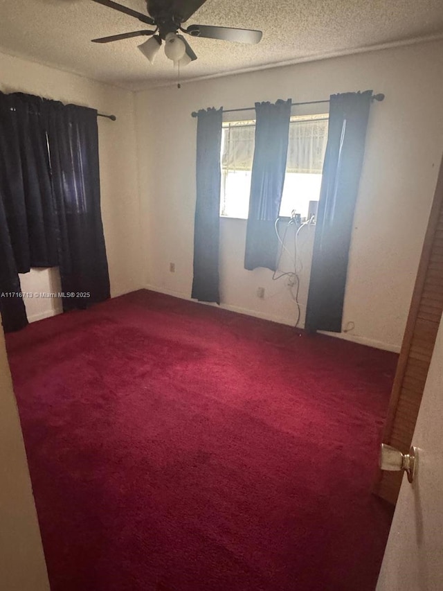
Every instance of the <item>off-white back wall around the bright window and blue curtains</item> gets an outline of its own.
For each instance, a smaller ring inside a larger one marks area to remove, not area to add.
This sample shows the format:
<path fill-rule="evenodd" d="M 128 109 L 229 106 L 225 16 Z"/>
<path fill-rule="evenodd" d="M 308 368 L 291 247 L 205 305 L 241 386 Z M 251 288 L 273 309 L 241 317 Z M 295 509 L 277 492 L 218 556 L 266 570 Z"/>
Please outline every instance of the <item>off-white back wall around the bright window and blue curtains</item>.
<path fill-rule="evenodd" d="M 342 336 L 398 350 L 442 157 L 442 73 L 443 43 L 433 42 L 138 93 L 145 285 L 190 296 L 197 125 L 192 111 L 374 89 L 386 99 L 373 105 L 370 116 L 343 319 L 355 328 Z M 324 111 L 324 105 L 315 106 L 309 112 Z M 296 312 L 284 283 L 275 285 L 266 270 L 243 270 L 245 229 L 244 221 L 221 220 L 223 306 L 293 324 Z M 174 274 L 170 262 L 176 264 Z M 307 276 L 300 293 L 303 316 Z M 264 301 L 255 294 L 259 285 L 269 294 Z"/>

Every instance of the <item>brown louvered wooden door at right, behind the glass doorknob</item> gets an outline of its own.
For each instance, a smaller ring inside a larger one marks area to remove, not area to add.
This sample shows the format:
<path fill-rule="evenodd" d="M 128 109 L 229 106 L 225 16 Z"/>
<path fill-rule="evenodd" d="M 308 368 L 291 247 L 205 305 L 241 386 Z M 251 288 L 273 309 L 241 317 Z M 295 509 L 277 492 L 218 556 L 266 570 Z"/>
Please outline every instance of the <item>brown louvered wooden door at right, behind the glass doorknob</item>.
<path fill-rule="evenodd" d="M 413 439 L 442 312 L 443 160 L 383 433 L 383 443 L 404 453 Z M 399 472 L 379 473 L 375 492 L 391 503 L 397 502 L 401 477 Z"/>

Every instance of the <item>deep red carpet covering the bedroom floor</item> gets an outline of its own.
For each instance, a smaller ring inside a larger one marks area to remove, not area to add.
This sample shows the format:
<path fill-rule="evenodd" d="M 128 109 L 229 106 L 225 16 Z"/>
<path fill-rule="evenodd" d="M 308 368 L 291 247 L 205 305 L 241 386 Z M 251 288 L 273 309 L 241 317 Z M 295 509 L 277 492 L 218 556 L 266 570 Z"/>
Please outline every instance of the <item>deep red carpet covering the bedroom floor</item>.
<path fill-rule="evenodd" d="M 152 292 L 8 335 L 53 591 L 369 591 L 397 356 Z"/>

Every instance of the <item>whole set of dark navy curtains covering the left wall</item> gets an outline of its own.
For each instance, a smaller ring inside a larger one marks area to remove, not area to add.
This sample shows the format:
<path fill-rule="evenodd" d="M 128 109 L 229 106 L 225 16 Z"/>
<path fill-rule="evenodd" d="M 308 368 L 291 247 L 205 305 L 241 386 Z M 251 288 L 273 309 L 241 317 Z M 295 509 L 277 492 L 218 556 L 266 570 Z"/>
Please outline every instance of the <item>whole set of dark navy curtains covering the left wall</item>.
<path fill-rule="evenodd" d="M 0 92 L 0 312 L 28 323 L 19 273 L 60 268 L 64 310 L 109 297 L 97 112 Z M 77 297 L 81 294 L 82 297 Z"/>

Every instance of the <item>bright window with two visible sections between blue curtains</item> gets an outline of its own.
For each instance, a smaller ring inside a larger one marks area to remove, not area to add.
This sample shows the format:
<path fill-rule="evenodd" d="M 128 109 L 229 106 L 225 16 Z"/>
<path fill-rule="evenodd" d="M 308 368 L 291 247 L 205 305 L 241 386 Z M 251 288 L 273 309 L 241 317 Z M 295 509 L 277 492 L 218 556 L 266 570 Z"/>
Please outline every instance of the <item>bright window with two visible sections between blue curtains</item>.
<path fill-rule="evenodd" d="M 327 142 L 328 115 L 291 117 L 286 176 L 280 216 L 292 211 L 307 218 L 318 201 Z M 220 215 L 248 218 L 255 121 L 224 123 L 221 137 Z"/>

